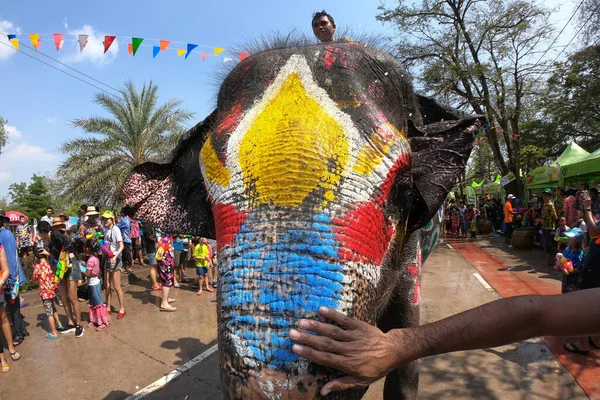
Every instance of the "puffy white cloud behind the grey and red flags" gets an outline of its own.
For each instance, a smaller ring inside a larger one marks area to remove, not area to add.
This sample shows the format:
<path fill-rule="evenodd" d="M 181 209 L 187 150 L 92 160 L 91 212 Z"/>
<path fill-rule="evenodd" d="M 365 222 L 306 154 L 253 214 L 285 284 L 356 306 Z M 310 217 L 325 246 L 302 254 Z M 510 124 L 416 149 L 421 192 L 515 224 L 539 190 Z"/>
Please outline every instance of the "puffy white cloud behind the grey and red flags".
<path fill-rule="evenodd" d="M 92 63 L 103 66 L 111 63 L 119 52 L 119 43 L 115 39 L 110 49 L 104 54 L 104 41 L 105 33 L 95 32 L 91 25 L 84 25 L 80 29 L 69 29 L 69 25 L 65 21 L 65 28 L 67 29 L 67 35 L 73 36 L 74 40 L 66 40 L 63 47 L 64 50 L 70 54 L 63 58 L 64 62 L 80 63 L 84 61 L 91 61 Z M 79 51 L 79 34 L 89 35 L 87 44 L 83 48 L 83 51 Z M 67 45 L 68 43 L 68 45 Z"/>

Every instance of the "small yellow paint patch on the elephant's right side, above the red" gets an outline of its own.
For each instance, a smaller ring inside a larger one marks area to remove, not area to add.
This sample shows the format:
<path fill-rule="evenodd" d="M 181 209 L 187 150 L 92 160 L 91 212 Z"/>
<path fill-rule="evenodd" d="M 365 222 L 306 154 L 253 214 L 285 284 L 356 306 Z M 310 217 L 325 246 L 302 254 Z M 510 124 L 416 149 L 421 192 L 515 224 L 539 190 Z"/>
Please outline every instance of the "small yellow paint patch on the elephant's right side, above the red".
<path fill-rule="evenodd" d="M 352 170 L 363 176 L 371 174 L 398 139 L 404 139 L 404 133 L 395 126 L 388 123 L 380 127 L 360 149 Z"/>

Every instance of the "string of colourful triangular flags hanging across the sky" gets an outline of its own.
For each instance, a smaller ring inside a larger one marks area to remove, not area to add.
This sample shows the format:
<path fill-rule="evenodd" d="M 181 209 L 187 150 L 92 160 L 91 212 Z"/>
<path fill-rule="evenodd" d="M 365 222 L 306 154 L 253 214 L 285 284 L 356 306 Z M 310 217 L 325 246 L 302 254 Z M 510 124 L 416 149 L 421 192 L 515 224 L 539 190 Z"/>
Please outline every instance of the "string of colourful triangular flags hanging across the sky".
<path fill-rule="evenodd" d="M 17 37 L 17 35 L 9 34 L 7 36 L 8 36 L 9 42 L 14 46 L 14 48 L 19 50 L 19 38 Z M 63 37 L 64 37 L 64 34 L 62 34 L 62 33 L 53 33 L 52 34 L 52 38 L 54 40 L 54 46 L 56 47 L 56 51 L 59 51 L 60 49 L 62 49 L 62 47 L 65 43 Z M 110 49 L 110 47 L 112 46 L 112 44 L 115 42 L 116 39 L 117 39 L 117 37 L 114 35 L 105 35 L 104 36 L 104 40 L 102 41 L 102 45 L 104 46 L 104 54 L 106 54 L 106 52 Z M 42 43 L 42 38 L 40 37 L 40 34 L 39 33 L 30 33 L 29 40 L 31 41 L 33 48 L 36 50 L 39 50 L 40 45 Z M 80 52 L 84 51 L 86 45 L 88 44 L 88 40 L 89 40 L 89 35 L 87 35 L 87 34 L 81 33 L 81 34 L 77 35 L 77 42 L 79 43 L 79 51 Z M 149 40 L 153 40 L 153 39 L 149 39 Z M 127 43 L 127 53 L 131 56 L 135 56 L 135 54 L 138 52 L 143 41 L 144 41 L 144 38 L 132 37 L 131 42 Z M 160 53 L 167 50 L 167 48 L 169 48 L 170 45 L 171 45 L 170 40 L 159 40 L 158 45 L 151 46 L 152 47 L 152 58 L 156 58 Z M 183 49 L 176 48 L 177 57 L 181 57 L 181 56 L 185 55 L 185 59 L 187 59 L 188 56 L 194 50 L 196 50 L 196 48 L 198 46 L 199 45 L 194 44 L 194 43 L 187 43 L 187 46 Z M 208 46 L 203 46 L 203 47 L 208 47 Z M 200 52 L 202 61 L 206 60 L 206 58 L 209 56 L 219 56 L 221 53 L 223 53 L 224 51 L 227 50 L 223 47 L 213 47 L 212 49 L 213 49 L 212 53 Z M 250 56 L 250 53 L 245 52 L 245 51 L 241 51 L 237 54 L 238 54 L 238 56 L 237 56 L 238 61 L 242 61 L 246 57 Z M 223 56 L 223 62 L 230 62 L 233 60 L 234 60 L 233 57 Z"/>

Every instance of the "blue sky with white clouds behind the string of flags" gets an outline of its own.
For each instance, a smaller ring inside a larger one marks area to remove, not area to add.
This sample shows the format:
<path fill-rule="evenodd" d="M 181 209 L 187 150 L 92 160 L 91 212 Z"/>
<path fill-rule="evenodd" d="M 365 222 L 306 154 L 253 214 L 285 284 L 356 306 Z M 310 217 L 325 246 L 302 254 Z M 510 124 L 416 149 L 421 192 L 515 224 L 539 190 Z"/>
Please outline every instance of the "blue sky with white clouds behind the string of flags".
<path fill-rule="evenodd" d="M 200 52 L 212 53 L 212 49 L 199 47 L 184 60 L 177 57 L 176 48 L 185 48 L 185 42 L 232 48 L 273 31 L 288 32 L 296 28 L 310 34 L 311 14 L 323 8 L 335 17 L 338 28 L 391 35 L 390 26 L 375 20 L 379 3 L 379 0 L 13 1 L 4 2 L 0 10 L 0 32 L 18 33 L 20 40 L 28 45 L 31 45 L 29 34 L 39 33 L 42 38 L 39 52 L 113 87 L 126 79 L 138 86 L 152 80 L 158 84 L 163 101 L 181 99 L 186 109 L 196 113 L 193 121 L 196 122 L 211 111 L 216 92 L 214 75 L 222 68 L 223 56 L 235 55 L 225 52 L 203 62 Z M 395 4 L 390 0 L 386 3 Z M 559 4 L 557 0 L 550 3 Z M 563 21 L 560 27 L 571 10 L 571 4 L 563 4 L 556 14 L 556 21 Z M 563 36 L 570 38 L 571 32 L 569 28 Z M 65 43 L 59 52 L 54 47 L 52 33 L 64 34 Z M 79 33 L 90 34 L 82 53 L 76 41 Z M 100 43 L 104 35 L 117 36 L 107 55 L 102 54 Z M 132 36 L 147 38 L 135 57 L 127 54 L 127 43 Z M 153 59 L 151 46 L 158 43 L 150 39 L 173 43 Z M 0 37 L 0 41 L 5 42 L 5 38 Z M 42 55 L 36 57 L 52 63 Z M 103 115 L 103 111 L 91 101 L 98 89 L 1 44 L 0 72 L 0 116 L 8 119 L 10 134 L 9 144 L 0 155 L 0 197 L 5 197 L 11 183 L 28 181 L 33 173 L 55 171 L 63 159 L 56 151 L 58 146 L 81 135 L 69 125 L 71 119 Z"/>

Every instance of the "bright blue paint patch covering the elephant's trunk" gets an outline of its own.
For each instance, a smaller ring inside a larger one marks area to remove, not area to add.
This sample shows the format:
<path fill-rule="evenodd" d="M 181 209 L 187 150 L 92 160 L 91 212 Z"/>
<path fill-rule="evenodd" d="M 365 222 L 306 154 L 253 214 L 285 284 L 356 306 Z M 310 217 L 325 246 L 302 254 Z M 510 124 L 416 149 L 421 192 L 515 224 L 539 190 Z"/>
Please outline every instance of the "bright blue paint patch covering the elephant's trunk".
<path fill-rule="evenodd" d="M 307 221 L 305 229 L 276 235 L 275 242 L 258 238 L 254 223 L 249 216 L 233 241 L 228 271 L 221 276 L 222 307 L 230 313 L 232 333 L 256 360 L 271 368 L 289 366 L 298 356 L 288 330 L 320 306 L 337 308 L 341 300 L 339 249 L 325 213 Z M 248 308 L 269 310 L 270 316 L 243 315 Z"/>

